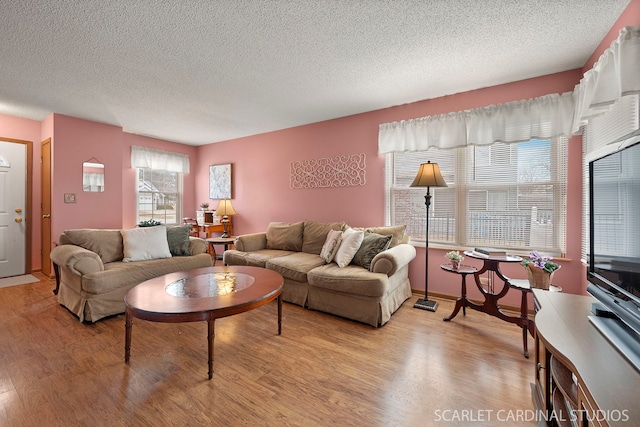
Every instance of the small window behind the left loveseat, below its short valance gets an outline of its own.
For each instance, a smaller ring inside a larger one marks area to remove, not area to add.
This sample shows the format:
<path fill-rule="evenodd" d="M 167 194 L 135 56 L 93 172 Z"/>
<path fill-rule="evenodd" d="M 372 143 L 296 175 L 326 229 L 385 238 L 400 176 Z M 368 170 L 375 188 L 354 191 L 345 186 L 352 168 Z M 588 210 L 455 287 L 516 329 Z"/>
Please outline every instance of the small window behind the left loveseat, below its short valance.
<path fill-rule="evenodd" d="M 182 218 L 182 174 L 139 168 L 137 221 L 178 224 Z"/>

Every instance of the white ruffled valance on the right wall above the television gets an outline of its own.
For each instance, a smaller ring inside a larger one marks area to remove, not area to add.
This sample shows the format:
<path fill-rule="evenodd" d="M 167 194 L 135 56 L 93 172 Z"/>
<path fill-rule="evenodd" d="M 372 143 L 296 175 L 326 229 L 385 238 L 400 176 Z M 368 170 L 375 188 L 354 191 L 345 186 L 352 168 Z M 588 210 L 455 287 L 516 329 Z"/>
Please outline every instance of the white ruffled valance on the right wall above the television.
<path fill-rule="evenodd" d="M 639 64 L 640 26 L 624 27 L 574 89 L 573 133 L 591 117 L 607 112 L 621 97 L 640 93 Z"/>

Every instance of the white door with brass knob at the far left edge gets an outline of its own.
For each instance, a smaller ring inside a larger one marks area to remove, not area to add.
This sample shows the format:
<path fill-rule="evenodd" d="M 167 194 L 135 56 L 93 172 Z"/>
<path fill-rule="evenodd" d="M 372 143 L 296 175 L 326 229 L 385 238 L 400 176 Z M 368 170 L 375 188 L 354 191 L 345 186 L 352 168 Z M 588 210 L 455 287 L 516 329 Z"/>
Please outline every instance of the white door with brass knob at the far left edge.
<path fill-rule="evenodd" d="M 0 141 L 0 277 L 25 274 L 26 150 Z"/>

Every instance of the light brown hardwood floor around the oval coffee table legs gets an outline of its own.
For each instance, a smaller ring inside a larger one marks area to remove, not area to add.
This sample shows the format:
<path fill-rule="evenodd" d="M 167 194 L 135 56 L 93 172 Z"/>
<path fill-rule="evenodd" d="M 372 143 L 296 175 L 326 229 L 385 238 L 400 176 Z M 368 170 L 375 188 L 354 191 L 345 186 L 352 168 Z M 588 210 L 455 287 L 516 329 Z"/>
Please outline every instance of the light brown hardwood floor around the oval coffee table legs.
<path fill-rule="evenodd" d="M 220 319 L 207 380 L 205 322 L 135 320 L 127 365 L 124 315 L 82 324 L 52 289 L 0 289 L 2 426 L 535 425 L 520 329 L 443 322 L 452 301 L 378 329 L 285 303 L 278 336 L 275 302 Z"/>

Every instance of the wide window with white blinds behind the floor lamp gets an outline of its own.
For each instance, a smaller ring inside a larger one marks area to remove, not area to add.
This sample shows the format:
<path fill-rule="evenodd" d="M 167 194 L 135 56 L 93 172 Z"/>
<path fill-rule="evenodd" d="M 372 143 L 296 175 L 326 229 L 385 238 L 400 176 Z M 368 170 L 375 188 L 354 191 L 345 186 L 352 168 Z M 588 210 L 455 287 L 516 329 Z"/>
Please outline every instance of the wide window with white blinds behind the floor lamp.
<path fill-rule="evenodd" d="M 409 185 L 427 160 L 448 184 L 431 188 L 430 244 L 565 252 L 566 138 L 388 154 L 388 217 L 416 242 L 426 189 Z"/>

